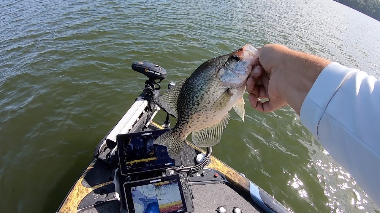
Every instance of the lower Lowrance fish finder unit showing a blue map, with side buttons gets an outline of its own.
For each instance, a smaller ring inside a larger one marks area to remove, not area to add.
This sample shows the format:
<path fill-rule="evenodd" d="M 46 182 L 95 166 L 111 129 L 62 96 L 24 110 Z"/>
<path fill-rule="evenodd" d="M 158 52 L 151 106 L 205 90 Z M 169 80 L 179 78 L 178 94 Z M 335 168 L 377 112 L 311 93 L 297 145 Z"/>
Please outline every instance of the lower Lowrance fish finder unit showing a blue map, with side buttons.
<path fill-rule="evenodd" d="M 124 183 L 129 213 L 194 211 L 186 173 Z"/>

